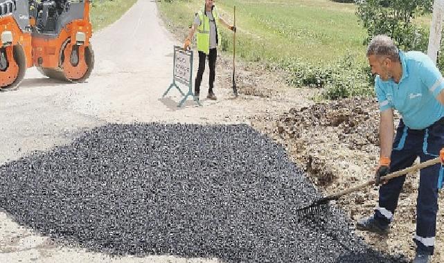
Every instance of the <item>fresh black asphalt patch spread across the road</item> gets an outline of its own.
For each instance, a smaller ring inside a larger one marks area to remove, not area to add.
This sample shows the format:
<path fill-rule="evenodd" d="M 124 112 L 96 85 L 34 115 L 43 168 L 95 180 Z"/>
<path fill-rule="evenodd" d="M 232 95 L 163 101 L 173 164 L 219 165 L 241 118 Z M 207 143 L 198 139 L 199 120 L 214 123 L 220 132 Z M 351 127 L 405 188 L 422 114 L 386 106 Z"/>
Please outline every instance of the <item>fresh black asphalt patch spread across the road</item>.
<path fill-rule="evenodd" d="M 373 251 L 280 145 L 247 125 L 107 125 L 0 167 L 24 226 L 113 255 L 222 262 L 400 262 Z"/>

